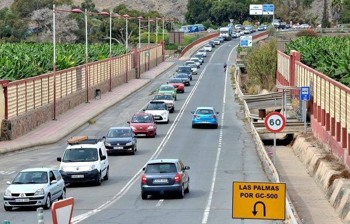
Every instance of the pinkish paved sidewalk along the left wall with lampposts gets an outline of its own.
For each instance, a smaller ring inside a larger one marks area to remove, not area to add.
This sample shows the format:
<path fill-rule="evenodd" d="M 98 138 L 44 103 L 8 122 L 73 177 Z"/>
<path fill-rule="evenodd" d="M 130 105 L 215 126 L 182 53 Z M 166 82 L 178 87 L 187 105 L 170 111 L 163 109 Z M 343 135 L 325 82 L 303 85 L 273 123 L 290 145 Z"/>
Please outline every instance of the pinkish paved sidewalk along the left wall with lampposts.
<path fill-rule="evenodd" d="M 160 63 L 157 67 L 144 73 L 149 79 L 131 79 L 128 83 L 114 88 L 112 92 L 101 95 L 101 99 L 81 104 L 58 116 L 57 120 L 48 121 L 17 139 L 0 142 L 0 154 L 58 142 L 104 110 L 145 87 L 151 82 L 150 78 L 159 76 L 173 65 L 174 63 L 170 62 Z"/>

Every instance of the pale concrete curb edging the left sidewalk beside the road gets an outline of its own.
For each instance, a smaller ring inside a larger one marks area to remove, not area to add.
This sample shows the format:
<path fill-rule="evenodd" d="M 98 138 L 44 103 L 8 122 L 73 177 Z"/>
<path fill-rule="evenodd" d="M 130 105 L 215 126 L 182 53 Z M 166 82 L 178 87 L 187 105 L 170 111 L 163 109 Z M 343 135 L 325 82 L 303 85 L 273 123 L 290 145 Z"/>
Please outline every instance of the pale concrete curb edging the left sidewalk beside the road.
<path fill-rule="evenodd" d="M 73 132 L 74 130 L 76 130 L 79 127 L 81 127 L 82 125 L 84 125 L 90 119 L 98 116 L 104 110 L 107 110 L 108 108 L 112 107 L 113 105 L 124 100 L 125 98 L 127 98 L 128 96 L 133 94 L 135 91 L 139 91 L 139 90 L 145 88 L 147 86 L 147 84 L 149 84 L 150 82 L 151 82 L 151 80 L 145 79 L 144 82 L 140 83 L 139 85 L 128 89 L 127 94 L 125 94 L 123 97 L 116 99 L 115 101 L 111 101 L 109 104 L 103 105 L 103 107 L 100 107 L 98 110 L 95 110 L 94 113 L 91 113 L 90 116 L 88 116 L 88 118 L 81 120 L 81 121 L 77 122 L 76 124 L 73 124 L 72 126 L 69 126 L 69 128 L 64 129 L 63 131 L 61 130 L 54 137 L 52 137 L 50 139 L 33 141 L 33 142 L 25 142 L 22 144 L 16 144 L 13 147 L 6 147 L 3 149 L 0 149 L 0 154 L 13 152 L 13 151 L 20 150 L 20 149 L 26 149 L 26 148 L 30 148 L 30 147 L 34 147 L 34 146 L 43 146 L 43 145 L 49 145 L 49 144 L 56 143 L 56 142 L 60 141 L 61 139 L 63 139 L 65 136 L 67 136 L 69 133 Z"/>

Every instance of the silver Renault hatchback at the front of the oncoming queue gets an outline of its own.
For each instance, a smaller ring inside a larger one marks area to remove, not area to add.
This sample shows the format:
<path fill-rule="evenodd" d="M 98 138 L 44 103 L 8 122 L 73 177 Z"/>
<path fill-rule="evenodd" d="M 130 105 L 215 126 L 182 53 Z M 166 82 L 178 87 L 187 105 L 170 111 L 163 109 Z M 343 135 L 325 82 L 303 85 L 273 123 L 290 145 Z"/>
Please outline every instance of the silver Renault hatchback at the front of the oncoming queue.
<path fill-rule="evenodd" d="M 4 208 L 43 206 L 51 207 L 51 202 L 65 199 L 65 185 L 57 169 L 30 168 L 20 171 L 4 193 Z"/>

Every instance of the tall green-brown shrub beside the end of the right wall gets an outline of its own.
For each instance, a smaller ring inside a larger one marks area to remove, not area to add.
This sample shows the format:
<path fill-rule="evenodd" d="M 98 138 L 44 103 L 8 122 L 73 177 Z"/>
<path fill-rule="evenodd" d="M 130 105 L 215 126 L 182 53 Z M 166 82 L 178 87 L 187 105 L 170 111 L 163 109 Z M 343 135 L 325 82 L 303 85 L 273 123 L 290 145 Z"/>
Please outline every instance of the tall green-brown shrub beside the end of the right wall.
<path fill-rule="evenodd" d="M 275 38 L 272 38 L 262 46 L 256 44 L 248 50 L 245 60 L 248 77 L 251 82 L 268 90 L 276 83 L 276 45 Z"/>

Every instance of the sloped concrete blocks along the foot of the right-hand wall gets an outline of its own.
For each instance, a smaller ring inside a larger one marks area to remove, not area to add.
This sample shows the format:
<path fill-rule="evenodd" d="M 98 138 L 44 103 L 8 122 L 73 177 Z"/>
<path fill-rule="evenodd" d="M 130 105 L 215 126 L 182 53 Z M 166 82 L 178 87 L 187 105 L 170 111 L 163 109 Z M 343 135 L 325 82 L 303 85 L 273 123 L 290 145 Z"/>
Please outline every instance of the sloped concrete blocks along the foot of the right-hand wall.
<path fill-rule="evenodd" d="M 296 137 L 292 148 L 308 171 L 313 174 L 314 180 L 325 193 L 336 213 L 344 223 L 350 223 L 350 206 L 348 206 L 350 204 L 350 180 L 337 178 L 328 187 L 329 179 L 333 174 L 338 174 L 340 171 L 335 170 L 331 162 L 323 160 L 320 160 L 316 170 L 313 169 L 318 160 L 325 155 L 322 150 L 307 142 L 302 136 Z"/>

